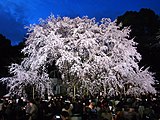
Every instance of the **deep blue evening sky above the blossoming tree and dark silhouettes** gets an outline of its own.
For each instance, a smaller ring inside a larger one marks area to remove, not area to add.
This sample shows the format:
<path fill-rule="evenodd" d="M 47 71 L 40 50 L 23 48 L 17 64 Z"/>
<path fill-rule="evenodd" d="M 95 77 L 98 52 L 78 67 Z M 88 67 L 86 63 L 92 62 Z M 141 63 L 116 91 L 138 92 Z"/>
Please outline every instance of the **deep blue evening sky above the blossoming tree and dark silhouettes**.
<path fill-rule="evenodd" d="M 126 11 L 150 8 L 160 15 L 160 0 L 0 0 L 0 33 L 12 41 L 22 41 L 25 26 L 55 16 L 88 16 L 116 19 Z"/>

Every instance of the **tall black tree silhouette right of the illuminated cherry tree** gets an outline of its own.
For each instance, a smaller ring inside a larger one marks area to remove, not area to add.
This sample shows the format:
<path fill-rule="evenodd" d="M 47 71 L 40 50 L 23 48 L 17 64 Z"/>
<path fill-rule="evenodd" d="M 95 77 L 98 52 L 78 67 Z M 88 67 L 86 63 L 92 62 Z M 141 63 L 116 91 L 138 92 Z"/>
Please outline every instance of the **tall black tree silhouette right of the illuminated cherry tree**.
<path fill-rule="evenodd" d="M 122 28 L 130 26 L 131 38 L 138 43 L 137 50 L 142 55 L 140 66 L 150 66 L 150 71 L 156 72 L 160 80 L 160 46 L 157 32 L 160 26 L 160 17 L 151 9 L 141 9 L 139 12 L 129 11 L 117 18 L 117 24 Z"/>

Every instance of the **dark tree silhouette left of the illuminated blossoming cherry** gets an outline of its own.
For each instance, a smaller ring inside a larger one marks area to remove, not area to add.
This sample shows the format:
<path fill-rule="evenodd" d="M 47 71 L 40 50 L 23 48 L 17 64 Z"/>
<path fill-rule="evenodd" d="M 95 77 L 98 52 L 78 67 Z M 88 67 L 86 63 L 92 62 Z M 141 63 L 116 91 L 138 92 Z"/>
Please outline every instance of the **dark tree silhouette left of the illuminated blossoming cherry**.
<path fill-rule="evenodd" d="M 20 63 L 23 57 L 20 45 L 12 46 L 11 41 L 0 34 L 0 78 L 11 76 L 8 72 L 8 66 L 11 63 Z M 0 83 L 0 96 L 6 94 L 6 86 Z"/>

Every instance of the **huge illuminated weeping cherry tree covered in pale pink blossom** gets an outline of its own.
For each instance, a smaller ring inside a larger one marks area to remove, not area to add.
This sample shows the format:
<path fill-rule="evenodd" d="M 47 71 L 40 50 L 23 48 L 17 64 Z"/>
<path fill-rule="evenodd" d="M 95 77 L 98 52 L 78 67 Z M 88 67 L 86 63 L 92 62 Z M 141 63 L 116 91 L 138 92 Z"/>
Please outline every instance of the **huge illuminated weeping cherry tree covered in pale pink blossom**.
<path fill-rule="evenodd" d="M 29 37 L 22 52 L 23 61 L 10 66 L 13 77 L 2 78 L 10 92 L 21 94 L 30 83 L 44 93 L 51 89 L 47 65 L 55 62 L 68 90 L 91 94 L 155 93 L 154 78 L 147 69 L 140 69 L 141 55 L 136 43 L 129 39 L 130 30 L 120 30 L 115 22 L 102 19 L 50 16 L 29 27 Z M 52 91 L 50 91 L 52 92 Z"/>

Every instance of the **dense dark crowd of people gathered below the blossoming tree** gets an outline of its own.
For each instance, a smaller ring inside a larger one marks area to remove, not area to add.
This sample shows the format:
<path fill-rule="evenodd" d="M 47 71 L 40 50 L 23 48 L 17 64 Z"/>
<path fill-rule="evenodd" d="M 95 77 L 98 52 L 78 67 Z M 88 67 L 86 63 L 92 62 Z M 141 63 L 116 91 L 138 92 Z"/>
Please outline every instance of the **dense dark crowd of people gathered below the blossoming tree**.
<path fill-rule="evenodd" d="M 49 96 L 2 98 L 0 120 L 159 120 L 160 99 L 153 95 Z"/>

